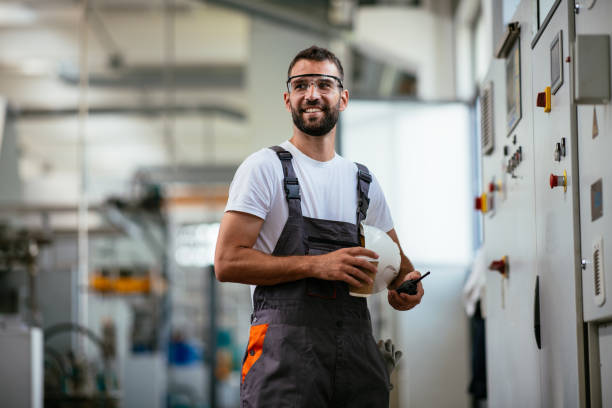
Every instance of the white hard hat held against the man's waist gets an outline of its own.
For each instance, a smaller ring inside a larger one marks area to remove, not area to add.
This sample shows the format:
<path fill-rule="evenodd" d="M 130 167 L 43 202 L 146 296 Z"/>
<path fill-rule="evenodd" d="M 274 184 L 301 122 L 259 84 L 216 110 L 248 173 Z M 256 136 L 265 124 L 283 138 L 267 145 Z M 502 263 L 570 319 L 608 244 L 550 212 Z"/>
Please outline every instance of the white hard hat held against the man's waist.
<path fill-rule="evenodd" d="M 365 297 L 372 293 L 378 293 L 389 286 L 399 273 L 402 259 L 399 247 L 386 232 L 371 225 L 361 224 L 361 233 L 364 237 L 365 248 L 378 254 L 378 259 L 367 258 L 374 263 L 378 263 L 372 291 L 367 294 L 351 292 L 353 296 Z"/>

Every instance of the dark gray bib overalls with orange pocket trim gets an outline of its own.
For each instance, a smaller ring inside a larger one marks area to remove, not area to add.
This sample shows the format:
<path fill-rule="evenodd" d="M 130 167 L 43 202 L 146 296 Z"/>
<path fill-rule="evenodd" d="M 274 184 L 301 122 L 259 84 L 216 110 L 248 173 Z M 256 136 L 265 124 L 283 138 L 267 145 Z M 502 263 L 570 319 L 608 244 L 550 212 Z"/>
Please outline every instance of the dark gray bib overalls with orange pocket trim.
<path fill-rule="evenodd" d="M 272 255 L 320 255 L 359 246 L 372 178 L 357 164 L 356 224 L 302 216 L 291 153 L 276 151 L 289 218 Z M 388 407 L 389 376 L 364 298 L 341 281 L 314 278 L 257 286 L 242 368 L 242 407 Z"/>

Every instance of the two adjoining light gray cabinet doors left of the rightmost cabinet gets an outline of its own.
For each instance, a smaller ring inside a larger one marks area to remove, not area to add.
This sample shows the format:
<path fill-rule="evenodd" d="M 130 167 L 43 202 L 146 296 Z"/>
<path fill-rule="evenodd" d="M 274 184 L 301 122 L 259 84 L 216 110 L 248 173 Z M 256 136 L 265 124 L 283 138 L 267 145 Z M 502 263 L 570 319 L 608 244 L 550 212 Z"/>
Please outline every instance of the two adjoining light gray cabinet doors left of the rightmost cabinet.
<path fill-rule="evenodd" d="M 537 36 L 534 4 L 521 1 L 512 18 L 521 27 L 521 114 L 513 127 L 507 113 L 516 102 L 506 90 L 516 95 L 518 88 L 509 85 L 517 75 L 507 70 L 508 57 L 495 60 L 486 78 L 496 140 L 482 158 L 482 187 L 493 205 L 483 214 L 484 248 L 488 262 L 506 256 L 508 265 L 505 276 L 487 275 L 488 404 L 584 407 L 574 1 L 553 6 Z M 492 181 L 502 188 L 489 192 Z"/>

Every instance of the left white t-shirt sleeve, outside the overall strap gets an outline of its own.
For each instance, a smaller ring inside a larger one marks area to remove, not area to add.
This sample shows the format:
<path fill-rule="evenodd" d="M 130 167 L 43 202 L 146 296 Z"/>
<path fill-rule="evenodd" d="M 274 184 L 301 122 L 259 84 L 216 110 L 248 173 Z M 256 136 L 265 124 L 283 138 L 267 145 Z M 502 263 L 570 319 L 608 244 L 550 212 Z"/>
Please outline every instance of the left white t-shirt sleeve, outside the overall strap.
<path fill-rule="evenodd" d="M 236 171 L 225 211 L 240 211 L 266 219 L 276 189 L 274 157 L 259 151 L 249 156 Z"/>

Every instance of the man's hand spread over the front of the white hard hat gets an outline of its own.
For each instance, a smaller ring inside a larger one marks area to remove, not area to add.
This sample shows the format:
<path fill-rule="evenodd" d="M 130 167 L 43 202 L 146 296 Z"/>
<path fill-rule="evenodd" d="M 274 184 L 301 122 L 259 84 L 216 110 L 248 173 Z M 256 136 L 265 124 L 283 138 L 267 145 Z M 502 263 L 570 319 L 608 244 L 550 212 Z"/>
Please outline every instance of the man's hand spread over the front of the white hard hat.
<path fill-rule="evenodd" d="M 343 281 L 351 286 L 372 284 L 373 280 L 361 269 L 376 274 L 376 266 L 359 257 L 378 259 L 378 254 L 362 247 L 342 248 L 310 258 L 312 276 L 318 279 Z"/>

